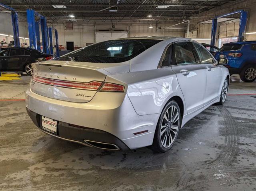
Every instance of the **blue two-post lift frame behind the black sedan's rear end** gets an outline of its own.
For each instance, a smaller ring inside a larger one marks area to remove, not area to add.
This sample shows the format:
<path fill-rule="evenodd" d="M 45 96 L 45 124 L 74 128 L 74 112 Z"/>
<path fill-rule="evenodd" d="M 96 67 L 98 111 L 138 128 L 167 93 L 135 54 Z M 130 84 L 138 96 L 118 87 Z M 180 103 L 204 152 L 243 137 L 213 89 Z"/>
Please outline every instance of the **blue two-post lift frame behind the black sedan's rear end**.
<path fill-rule="evenodd" d="M 27 9 L 28 33 L 29 33 L 30 46 L 34 46 L 35 49 L 38 49 L 38 47 L 37 47 L 37 36 L 38 35 L 36 35 L 35 16 L 38 16 L 40 18 L 43 51 L 44 51 L 44 53 L 49 54 L 50 49 L 49 49 L 49 43 L 48 43 L 48 30 L 47 30 L 46 18 L 44 16 L 38 14 L 37 12 L 35 12 L 32 9 Z M 38 26 L 38 28 L 39 28 L 39 26 Z M 38 31 L 39 31 L 39 29 L 38 29 Z"/>

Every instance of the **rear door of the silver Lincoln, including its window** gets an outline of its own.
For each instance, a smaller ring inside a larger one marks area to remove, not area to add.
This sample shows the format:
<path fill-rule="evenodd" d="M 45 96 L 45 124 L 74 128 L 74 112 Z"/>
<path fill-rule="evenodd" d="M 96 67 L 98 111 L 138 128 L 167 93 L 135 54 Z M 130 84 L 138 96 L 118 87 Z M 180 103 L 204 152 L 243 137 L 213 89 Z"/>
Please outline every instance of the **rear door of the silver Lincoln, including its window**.
<path fill-rule="evenodd" d="M 206 92 L 206 72 L 191 42 L 173 43 L 171 67 L 184 95 L 188 115 L 191 115 L 204 106 Z"/>

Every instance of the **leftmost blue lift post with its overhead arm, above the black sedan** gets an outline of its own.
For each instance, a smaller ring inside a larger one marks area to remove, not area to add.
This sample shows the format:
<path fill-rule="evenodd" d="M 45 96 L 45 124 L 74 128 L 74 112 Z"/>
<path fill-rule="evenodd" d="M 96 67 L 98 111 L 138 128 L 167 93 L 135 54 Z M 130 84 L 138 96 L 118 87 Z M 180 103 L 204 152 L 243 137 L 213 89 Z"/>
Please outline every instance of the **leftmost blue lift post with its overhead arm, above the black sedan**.
<path fill-rule="evenodd" d="M 15 9 L 8 7 L 5 4 L 0 3 L 0 6 L 11 11 L 14 46 L 20 47 L 18 13 Z"/>

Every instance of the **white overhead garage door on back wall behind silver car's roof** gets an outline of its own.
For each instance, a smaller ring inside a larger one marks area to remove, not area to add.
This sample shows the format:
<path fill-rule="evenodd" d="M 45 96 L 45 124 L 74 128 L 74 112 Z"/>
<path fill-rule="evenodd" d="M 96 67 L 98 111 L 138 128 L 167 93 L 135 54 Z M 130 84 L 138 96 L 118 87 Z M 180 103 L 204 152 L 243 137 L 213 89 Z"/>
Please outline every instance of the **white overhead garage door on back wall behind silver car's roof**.
<path fill-rule="evenodd" d="M 117 38 L 127 38 L 127 32 L 96 32 L 96 43 Z"/>

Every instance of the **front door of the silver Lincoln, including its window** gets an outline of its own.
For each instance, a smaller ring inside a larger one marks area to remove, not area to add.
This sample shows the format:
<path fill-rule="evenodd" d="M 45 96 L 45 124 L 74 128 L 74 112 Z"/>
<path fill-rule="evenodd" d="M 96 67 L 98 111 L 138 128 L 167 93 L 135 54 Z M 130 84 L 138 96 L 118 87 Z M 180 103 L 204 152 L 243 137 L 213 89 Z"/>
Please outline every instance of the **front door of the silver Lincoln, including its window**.
<path fill-rule="evenodd" d="M 206 93 L 204 101 L 206 104 L 212 102 L 219 96 L 219 89 L 222 81 L 222 71 L 218 67 L 217 62 L 213 59 L 211 53 L 205 47 L 198 43 L 194 43 L 194 49 L 199 57 L 202 67 L 206 71 Z"/>

